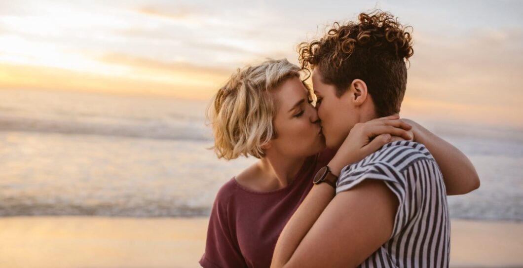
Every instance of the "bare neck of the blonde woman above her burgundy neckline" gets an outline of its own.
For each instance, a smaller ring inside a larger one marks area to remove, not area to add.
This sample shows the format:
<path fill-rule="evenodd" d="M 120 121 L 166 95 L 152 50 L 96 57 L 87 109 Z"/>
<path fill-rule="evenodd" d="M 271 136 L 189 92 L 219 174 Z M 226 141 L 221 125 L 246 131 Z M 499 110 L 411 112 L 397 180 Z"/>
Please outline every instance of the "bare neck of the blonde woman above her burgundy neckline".
<path fill-rule="evenodd" d="M 289 158 L 268 150 L 265 157 L 258 162 L 258 167 L 264 174 L 267 187 L 280 189 L 294 181 L 305 159 L 306 157 Z"/>

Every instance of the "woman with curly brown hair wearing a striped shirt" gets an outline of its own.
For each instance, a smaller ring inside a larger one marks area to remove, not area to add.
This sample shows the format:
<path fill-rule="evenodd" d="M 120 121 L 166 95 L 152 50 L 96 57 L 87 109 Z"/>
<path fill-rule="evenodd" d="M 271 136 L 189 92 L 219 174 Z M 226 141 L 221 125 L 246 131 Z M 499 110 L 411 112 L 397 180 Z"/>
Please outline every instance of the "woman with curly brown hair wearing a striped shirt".
<path fill-rule="evenodd" d="M 412 55 L 411 34 L 380 10 L 302 43 L 328 148 L 345 150 L 355 126 L 399 113 Z M 271 267 L 447 267 L 446 195 L 458 182 L 448 178 L 470 163 L 418 141 L 388 143 L 349 165 L 333 159 L 315 181 L 336 185 L 311 189 L 281 232 Z"/>

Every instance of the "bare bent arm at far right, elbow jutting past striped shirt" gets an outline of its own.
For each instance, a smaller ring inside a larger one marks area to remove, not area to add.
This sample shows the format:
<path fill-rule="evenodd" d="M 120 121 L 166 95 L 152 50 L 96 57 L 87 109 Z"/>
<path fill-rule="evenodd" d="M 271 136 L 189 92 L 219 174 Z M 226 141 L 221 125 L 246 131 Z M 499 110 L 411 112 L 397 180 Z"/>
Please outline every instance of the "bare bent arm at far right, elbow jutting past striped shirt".
<path fill-rule="evenodd" d="M 465 154 L 416 122 L 402 120 L 413 126 L 414 141 L 424 144 L 436 159 L 443 174 L 447 195 L 467 194 L 480 187 L 476 169 Z"/>

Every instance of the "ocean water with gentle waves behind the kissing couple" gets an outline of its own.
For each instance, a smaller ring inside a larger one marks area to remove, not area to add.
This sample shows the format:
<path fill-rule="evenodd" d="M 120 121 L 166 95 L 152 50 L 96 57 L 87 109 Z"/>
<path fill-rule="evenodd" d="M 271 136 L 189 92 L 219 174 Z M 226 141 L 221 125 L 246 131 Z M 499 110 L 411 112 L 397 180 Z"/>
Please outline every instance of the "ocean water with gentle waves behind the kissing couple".
<path fill-rule="evenodd" d="M 218 160 L 206 102 L 0 90 L 0 216 L 193 217 L 254 158 Z M 452 218 L 523 221 L 523 130 L 423 122 L 473 162 L 481 187 Z"/>

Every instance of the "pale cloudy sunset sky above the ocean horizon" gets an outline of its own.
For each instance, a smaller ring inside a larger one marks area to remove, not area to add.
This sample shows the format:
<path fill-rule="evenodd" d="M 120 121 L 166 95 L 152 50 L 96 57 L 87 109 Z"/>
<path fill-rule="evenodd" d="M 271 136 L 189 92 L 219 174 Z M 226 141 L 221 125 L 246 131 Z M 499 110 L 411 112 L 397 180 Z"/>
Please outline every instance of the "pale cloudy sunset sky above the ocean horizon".
<path fill-rule="evenodd" d="M 208 100 L 376 7 L 413 27 L 402 114 L 523 127 L 521 1 L 0 0 L 0 88 Z"/>

